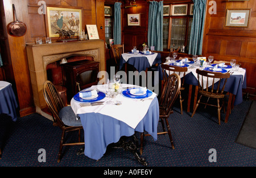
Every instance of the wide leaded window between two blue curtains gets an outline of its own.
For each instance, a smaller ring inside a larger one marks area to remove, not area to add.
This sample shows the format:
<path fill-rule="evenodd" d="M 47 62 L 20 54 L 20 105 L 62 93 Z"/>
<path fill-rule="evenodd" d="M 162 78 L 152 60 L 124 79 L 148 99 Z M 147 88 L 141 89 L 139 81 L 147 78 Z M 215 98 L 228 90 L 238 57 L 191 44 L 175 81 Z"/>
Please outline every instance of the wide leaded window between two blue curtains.
<path fill-rule="evenodd" d="M 170 15 L 164 15 L 163 19 L 163 49 L 179 48 L 189 45 L 193 15 L 191 6 L 193 4 L 171 5 Z M 185 51 L 186 52 L 186 51 Z"/>

